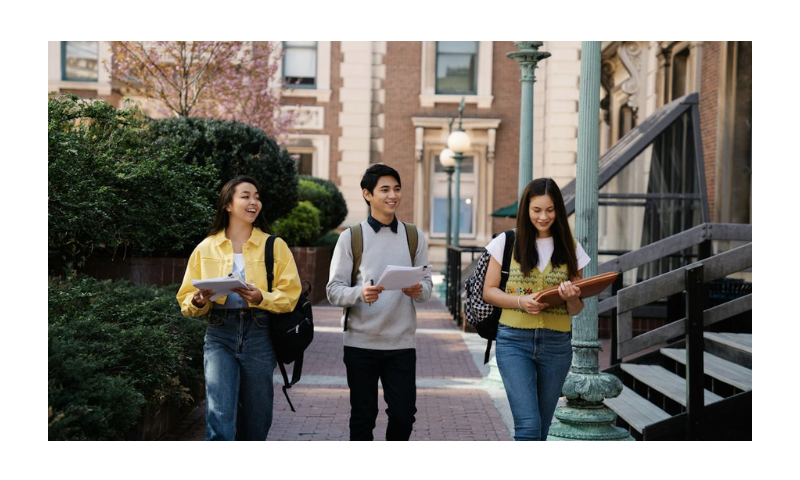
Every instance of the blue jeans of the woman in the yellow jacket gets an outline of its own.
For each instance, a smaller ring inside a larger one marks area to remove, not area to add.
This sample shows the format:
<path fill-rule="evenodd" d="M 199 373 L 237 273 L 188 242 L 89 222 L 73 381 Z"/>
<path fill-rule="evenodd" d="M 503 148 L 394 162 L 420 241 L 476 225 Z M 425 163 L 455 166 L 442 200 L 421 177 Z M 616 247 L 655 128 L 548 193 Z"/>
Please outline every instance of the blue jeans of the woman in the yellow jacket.
<path fill-rule="evenodd" d="M 256 309 L 211 311 L 203 347 L 206 440 L 267 439 L 277 365 L 267 318 Z"/>

